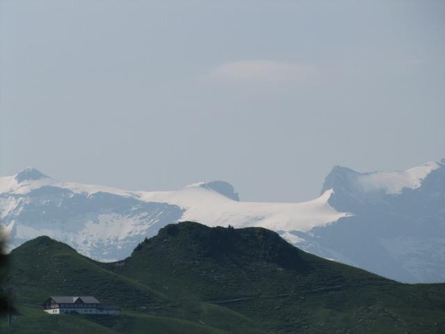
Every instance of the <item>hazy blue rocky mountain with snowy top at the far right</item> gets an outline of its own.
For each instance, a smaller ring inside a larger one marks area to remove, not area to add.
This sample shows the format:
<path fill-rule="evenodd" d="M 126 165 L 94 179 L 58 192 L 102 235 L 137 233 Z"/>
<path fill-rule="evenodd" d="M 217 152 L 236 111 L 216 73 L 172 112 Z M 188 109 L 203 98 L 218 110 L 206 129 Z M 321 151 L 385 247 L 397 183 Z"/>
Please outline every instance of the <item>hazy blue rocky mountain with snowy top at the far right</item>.
<path fill-rule="evenodd" d="M 353 216 L 297 233 L 302 248 L 404 282 L 445 282 L 445 159 L 392 173 L 337 166 L 325 189 Z"/>

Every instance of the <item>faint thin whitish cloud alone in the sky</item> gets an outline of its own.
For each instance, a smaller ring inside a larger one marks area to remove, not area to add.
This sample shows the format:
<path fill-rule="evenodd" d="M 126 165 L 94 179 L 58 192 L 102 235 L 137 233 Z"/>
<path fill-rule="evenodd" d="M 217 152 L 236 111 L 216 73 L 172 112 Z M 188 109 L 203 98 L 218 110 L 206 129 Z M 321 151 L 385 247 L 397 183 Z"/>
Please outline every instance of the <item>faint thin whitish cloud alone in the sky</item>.
<path fill-rule="evenodd" d="M 312 65 L 277 61 L 233 61 L 215 67 L 207 77 L 234 81 L 295 81 L 314 72 Z"/>

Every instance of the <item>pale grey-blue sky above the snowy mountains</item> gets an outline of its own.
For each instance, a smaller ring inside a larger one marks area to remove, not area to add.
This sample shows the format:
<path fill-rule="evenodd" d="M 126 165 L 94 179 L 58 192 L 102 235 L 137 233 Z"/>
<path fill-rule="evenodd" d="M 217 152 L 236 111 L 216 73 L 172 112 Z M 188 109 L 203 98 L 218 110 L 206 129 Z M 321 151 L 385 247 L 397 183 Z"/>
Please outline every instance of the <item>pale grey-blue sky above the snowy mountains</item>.
<path fill-rule="evenodd" d="M 241 200 L 445 157 L 445 1 L 0 0 L 0 175 Z"/>

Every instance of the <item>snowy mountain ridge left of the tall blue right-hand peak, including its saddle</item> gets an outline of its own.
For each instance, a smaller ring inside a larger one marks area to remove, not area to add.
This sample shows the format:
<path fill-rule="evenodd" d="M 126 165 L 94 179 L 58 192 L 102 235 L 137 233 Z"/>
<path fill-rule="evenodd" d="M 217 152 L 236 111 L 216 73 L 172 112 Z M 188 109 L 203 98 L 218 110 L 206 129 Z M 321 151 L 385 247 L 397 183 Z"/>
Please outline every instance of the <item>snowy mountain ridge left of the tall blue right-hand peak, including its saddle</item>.
<path fill-rule="evenodd" d="M 145 237 L 175 221 L 309 231 L 348 216 L 327 204 L 239 202 L 227 182 L 200 182 L 179 191 L 123 191 L 58 182 L 33 168 L 0 177 L 0 219 L 15 248 L 45 234 L 102 261 L 127 257 Z"/>

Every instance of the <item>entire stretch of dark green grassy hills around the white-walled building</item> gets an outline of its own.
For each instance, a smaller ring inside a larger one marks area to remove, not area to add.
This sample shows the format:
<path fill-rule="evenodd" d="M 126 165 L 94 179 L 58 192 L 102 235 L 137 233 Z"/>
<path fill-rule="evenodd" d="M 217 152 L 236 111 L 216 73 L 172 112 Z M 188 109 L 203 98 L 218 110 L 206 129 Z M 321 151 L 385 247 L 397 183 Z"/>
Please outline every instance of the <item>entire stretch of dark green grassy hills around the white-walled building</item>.
<path fill-rule="evenodd" d="M 11 328 L 2 319 L 1 333 L 445 332 L 444 284 L 396 283 L 302 252 L 262 228 L 168 225 L 108 264 L 39 237 L 13 250 L 10 267 L 18 313 Z M 38 309 L 64 294 L 92 294 L 123 312 Z"/>

